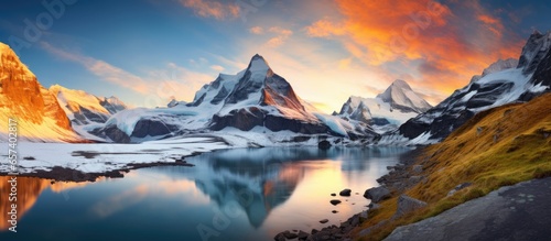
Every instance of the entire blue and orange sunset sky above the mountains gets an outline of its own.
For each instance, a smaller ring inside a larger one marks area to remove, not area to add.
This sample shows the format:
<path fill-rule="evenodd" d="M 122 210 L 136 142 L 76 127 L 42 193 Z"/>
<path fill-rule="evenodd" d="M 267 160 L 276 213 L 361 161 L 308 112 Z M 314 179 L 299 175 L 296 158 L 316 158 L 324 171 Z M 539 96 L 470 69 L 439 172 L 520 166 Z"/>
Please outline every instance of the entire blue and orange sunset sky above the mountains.
<path fill-rule="evenodd" d="M 325 112 L 398 78 L 434 105 L 495 61 L 518 58 L 534 29 L 551 30 L 549 1 L 64 1 L 2 3 L 0 42 L 46 88 L 137 107 L 190 101 L 256 53 Z"/>

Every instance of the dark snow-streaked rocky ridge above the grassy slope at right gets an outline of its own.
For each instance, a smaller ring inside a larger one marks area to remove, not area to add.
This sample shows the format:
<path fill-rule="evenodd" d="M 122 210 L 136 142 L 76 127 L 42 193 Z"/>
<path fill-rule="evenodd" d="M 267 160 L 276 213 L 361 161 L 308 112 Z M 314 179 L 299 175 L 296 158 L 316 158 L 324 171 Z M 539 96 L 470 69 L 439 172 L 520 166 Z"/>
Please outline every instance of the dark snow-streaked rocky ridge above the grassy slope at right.
<path fill-rule="evenodd" d="M 506 103 L 528 101 L 551 90 L 551 32 L 534 32 L 528 39 L 518 64 L 499 61 L 480 76 L 423 114 L 400 127 L 408 139 L 440 141 L 474 114 Z"/>

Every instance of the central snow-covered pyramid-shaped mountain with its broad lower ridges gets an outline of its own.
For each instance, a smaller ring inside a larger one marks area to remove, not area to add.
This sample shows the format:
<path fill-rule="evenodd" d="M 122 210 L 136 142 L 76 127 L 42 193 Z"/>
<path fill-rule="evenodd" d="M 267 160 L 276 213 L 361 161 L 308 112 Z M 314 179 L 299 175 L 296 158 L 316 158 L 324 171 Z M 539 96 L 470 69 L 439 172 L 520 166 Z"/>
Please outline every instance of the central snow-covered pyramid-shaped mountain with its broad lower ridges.
<path fill-rule="evenodd" d="M 366 124 L 350 124 L 316 111 L 258 54 L 246 69 L 235 75 L 220 74 L 204 85 L 192 102 L 171 100 L 168 107 L 116 113 L 106 122 L 102 134 L 115 142 L 142 142 L 228 129 L 255 131 L 260 127 L 296 135 L 376 135 Z"/>

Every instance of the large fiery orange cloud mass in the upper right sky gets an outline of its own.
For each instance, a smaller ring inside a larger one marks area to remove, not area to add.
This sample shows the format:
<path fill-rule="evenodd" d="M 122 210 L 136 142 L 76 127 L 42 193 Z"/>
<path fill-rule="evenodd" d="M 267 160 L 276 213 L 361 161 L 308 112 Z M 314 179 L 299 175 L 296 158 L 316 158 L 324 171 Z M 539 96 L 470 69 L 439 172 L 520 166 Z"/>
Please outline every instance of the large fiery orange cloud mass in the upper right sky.
<path fill-rule="evenodd" d="M 523 43 L 478 0 L 339 0 L 337 9 L 339 20 L 315 21 L 305 33 L 341 42 L 366 69 L 409 75 L 414 88 L 436 90 L 423 92 L 432 102 L 499 58 L 518 57 Z"/>

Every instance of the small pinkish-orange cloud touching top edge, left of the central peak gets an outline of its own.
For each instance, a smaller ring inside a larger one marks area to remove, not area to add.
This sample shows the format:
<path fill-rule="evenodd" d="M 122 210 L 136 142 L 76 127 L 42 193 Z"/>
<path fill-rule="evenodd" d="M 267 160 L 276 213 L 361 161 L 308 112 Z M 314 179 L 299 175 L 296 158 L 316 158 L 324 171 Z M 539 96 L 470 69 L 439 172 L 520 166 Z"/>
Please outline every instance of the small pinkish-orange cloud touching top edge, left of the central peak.
<path fill-rule="evenodd" d="M 195 14 L 217 20 L 233 19 L 239 15 L 239 6 L 216 0 L 180 0 L 186 8 L 193 9 Z"/>

